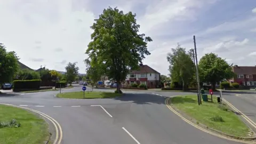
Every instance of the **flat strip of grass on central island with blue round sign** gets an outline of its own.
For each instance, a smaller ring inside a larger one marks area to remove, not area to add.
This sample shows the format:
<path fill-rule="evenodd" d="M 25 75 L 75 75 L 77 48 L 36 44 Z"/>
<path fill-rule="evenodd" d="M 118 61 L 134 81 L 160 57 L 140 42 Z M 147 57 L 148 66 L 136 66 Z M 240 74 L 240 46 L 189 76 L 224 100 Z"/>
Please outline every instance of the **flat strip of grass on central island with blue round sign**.
<path fill-rule="evenodd" d="M 85 95 L 85 99 L 96 99 L 96 98 L 114 98 L 119 97 L 122 94 L 119 93 L 111 93 L 111 92 L 66 92 L 66 93 L 58 93 L 58 98 L 73 98 L 73 99 L 83 99 Z"/>

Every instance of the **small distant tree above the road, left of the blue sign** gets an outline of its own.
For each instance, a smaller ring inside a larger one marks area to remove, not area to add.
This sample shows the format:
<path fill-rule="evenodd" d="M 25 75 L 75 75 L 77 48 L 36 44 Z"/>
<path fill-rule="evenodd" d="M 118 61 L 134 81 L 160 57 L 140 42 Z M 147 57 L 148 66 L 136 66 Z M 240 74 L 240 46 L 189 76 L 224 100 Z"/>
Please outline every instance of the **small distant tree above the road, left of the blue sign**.
<path fill-rule="evenodd" d="M 65 67 L 66 69 L 66 79 L 67 82 L 72 85 L 72 82 L 75 81 L 76 76 L 78 75 L 79 68 L 76 66 L 77 62 L 71 63 L 69 62 L 68 65 Z"/>

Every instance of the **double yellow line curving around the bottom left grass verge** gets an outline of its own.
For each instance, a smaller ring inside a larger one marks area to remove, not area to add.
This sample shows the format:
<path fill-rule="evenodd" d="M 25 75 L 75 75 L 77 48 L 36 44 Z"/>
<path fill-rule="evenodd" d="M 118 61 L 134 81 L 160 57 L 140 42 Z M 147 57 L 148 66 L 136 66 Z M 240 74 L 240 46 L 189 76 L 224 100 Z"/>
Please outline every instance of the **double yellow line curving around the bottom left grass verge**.
<path fill-rule="evenodd" d="M 60 144 L 61 140 L 62 140 L 62 137 L 63 137 L 63 134 L 62 134 L 62 129 L 61 129 L 61 126 L 60 124 L 55 121 L 55 119 L 53 119 L 52 117 L 50 117 L 49 115 L 46 115 L 40 111 L 37 111 L 37 110 L 34 110 L 34 109 L 31 109 L 31 108 L 26 108 L 26 107 L 20 107 L 20 106 L 16 106 L 16 105 L 11 105 L 11 104 L 7 104 L 7 103 L 0 103 L 2 105 L 6 105 L 6 106 L 12 106 L 12 107 L 18 107 L 18 108 L 22 108 L 22 109 L 27 109 L 27 110 L 30 110 L 30 111 L 33 111 L 34 113 L 37 113 L 43 117 L 45 117 L 46 119 L 48 119 L 55 127 L 55 131 L 56 131 L 56 137 L 54 139 L 54 142 L 53 144 Z"/>

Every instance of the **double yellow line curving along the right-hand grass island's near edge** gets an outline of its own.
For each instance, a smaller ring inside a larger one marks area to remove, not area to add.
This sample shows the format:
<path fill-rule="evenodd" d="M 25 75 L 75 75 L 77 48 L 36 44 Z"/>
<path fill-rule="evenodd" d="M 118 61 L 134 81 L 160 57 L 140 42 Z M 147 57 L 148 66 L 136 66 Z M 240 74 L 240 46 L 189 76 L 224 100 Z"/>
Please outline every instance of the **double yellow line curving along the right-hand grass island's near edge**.
<path fill-rule="evenodd" d="M 211 132 L 209 130 L 206 130 L 206 129 L 203 129 L 202 127 L 194 124 L 193 122 L 190 122 L 188 119 L 186 119 L 185 117 L 183 117 L 181 114 L 179 114 L 176 110 L 174 110 L 170 105 L 169 105 L 169 100 L 170 98 L 167 98 L 165 99 L 165 105 L 176 115 L 178 115 L 181 119 L 183 119 L 183 121 L 187 122 L 188 124 L 196 127 L 197 129 L 203 131 L 203 132 L 206 132 L 206 133 L 209 133 L 209 134 L 212 134 L 216 137 L 219 137 L 219 138 L 223 138 L 223 139 L 227 139 L 227 140 L 230 140 L 230 141 L 236 141 L 236 142 L 241 142 L 241 143 L 247 143 L 247 144 L 256 144 L 256 142 L 250 142 L 250 141 L 243 141 L 243 140 L 237 140 L 237 139 L 231 139 L 231 138 L 228 138 L 228 137 L 225 137 L 223 135 L 220 135 L 220 134 L 217 134 L 217 133 L 214 133 L 214 132 Z M 222 99 L 223 100 L 223 99 Z"/>

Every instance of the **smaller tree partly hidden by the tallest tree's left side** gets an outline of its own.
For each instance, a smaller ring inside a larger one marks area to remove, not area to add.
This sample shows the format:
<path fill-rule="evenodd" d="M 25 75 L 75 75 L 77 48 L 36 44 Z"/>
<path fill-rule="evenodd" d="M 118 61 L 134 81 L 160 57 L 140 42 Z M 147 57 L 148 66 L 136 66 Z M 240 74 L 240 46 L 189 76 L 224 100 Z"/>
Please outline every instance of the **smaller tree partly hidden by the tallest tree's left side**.
<path fill-rule="evenodd" d="M 100 77 L 102 76 L 102 68 L 100 67 L 100 65 L 91 66 L 90 59 L 85 59 L 84 62 L 86 65 L 86 74 L 91 79 L 90 84 L 92 85 L 92 91 L 93 91 L 94 85 L 96 85 L 96 87 L 98 87 L 97 83 L 100 80 Z M 84 78 L 86 79 L 86 77 L 84 77 Z"/>

